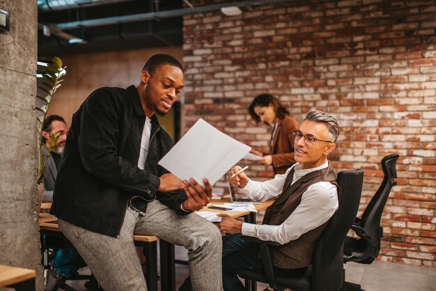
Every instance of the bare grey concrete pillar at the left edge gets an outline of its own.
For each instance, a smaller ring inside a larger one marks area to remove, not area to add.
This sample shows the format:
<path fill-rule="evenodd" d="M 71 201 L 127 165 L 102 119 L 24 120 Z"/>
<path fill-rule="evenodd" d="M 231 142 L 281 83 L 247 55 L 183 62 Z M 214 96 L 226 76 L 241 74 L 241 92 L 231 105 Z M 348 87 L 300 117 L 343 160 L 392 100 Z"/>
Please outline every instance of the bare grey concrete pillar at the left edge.
<path fill-rule="evenodd" d="M 0 264 L 35 269 L 43 290 L 36 190 L 36 1 L 0 0 Z"/>

